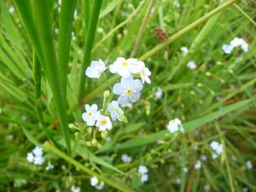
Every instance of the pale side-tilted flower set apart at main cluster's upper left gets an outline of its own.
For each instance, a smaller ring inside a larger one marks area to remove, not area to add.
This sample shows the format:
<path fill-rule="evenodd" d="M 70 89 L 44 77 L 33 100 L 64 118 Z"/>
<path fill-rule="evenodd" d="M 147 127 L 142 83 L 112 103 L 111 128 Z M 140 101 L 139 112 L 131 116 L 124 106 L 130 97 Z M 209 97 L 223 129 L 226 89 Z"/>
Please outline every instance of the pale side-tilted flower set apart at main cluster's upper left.
<path fill-rule="evenodd" d="M 105 63 L 100 60 L 93 60 L 90 64 L 90 67 L 88 67 L 85 71 L 85 74 L 88 78 L 100 78 L 100 75 L 102 72 L 104 72 L 107 69 L 105 66 Z"/>

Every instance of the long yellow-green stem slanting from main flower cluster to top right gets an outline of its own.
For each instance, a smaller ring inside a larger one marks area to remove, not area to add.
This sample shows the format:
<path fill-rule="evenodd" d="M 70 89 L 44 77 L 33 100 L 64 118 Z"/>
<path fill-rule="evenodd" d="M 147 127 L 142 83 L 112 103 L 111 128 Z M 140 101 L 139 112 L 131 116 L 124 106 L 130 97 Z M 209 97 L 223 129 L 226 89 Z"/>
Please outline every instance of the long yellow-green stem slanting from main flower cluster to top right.
<path fill-rule="evenodd" d="M 224 9 L 227 9 L 229 6 L 235 4 L 236 1 L 239 0 L 230 0 L 225 2 L 225 4 L 222 4 L 221 6 L 218 6 L 216 9 L 213 9 L 213 11 L 210 11 L 208 14 L 202 16 L 201 18 L 198 18 L 198 20 L 194 21 L 193 23 L 189 24 L 188 26 L 186 26 L 185 28 L 181 29 L 181 31 L 178 31 L 177 33 L 175 33 L 173 36 L 171 36 L 170 38 L 167 39 L 166 42 L 159 44 L 158 46 L 156 46 L 155 48 L 149 50 L 149 52 L 145 53 L 144 55 L 142 55 L 139 60 L 146 60 L 146 58 L 151 57 L 152 55 L 156 54 L 157 52 L 159 52 L 159 50 L 165 48 L 166 46 L 168 46 L 169 44 L 171 44 L 172 42 L 174 42 L 177 38 L 180 38 L 181 36 L 183 36 L 184 34 L 188 33 L 188 31 L 191 31 L 193 28 L 196 28 L 197 26 L 199 26 L 201 23 L 206 22 L 209 18 L 211 18 L 212 16 L 215 16 L 215 14 L 218 14 L 220 11 L 223 11 Z"/>

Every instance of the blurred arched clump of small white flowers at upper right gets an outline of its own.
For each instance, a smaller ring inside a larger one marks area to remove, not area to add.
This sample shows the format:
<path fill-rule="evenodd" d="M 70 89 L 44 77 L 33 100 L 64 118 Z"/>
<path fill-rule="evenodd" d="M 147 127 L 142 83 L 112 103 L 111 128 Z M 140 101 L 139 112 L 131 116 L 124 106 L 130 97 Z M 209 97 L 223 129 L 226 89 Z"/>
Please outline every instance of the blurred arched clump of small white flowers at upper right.
<path fill-rule="evenodd" d="M 248 43 L 243 40 L 242 38 L 234 38 L 232 41 L 230 41 L 230 44 L 224 44 L 222 49 L 223 52 L 226 54 L 230 54 L 232 50 L 236 47 L 242 48 L 242 50 L 247 53 L 249 50 Z"/>

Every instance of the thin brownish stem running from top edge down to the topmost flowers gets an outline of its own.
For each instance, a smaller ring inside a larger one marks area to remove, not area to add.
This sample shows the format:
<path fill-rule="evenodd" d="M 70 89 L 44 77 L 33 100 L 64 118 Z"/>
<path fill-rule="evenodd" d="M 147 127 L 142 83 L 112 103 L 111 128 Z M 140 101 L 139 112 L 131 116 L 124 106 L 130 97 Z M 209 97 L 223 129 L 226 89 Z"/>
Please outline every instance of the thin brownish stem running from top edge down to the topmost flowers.
<path fill-rule="evenodd" d="M 136 53 L 137 53 L 137 50 L 139 48 L 139 43 L 142 40 L 142 34 L 143 34 L 144 29 L 146 27 L 146 21 L 148 21 L 148 19 L 149 19 L 149 15 L 151 14 L 151 9 L 153 8 L 155 2 L 156 2 L 156 0 L 151 0 L 149 2 L 149 6 L 146 9 L 146 14 L 145 14 L 145 16 L 143 18 L 143 21 L 142 21 L 142 26 L 139 28 L 139 33 L 138 33 L 138 36 L 136 38 L 136 42 L 135 42 L 134 48 L 132 50 L 131 57 L 134 57 L 134 55 L 136 55 Z"/>

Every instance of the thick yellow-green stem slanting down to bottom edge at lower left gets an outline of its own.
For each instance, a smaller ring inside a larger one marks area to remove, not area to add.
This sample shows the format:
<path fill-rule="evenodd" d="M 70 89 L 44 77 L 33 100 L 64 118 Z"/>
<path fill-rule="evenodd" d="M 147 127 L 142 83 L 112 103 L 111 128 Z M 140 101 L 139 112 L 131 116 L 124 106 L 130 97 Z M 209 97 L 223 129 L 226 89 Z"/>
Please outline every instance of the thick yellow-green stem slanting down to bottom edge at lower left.
<path fill-rule="evenodd" d="M 119 191 L 133 191 L 132 189 L 128 188 L 127 186 L 124 186 L 124 184 L 114 182 L 110 180 L 109 178 L 105 178 L 105 176 L 102 176 L 100 174 L 97 174 L 95 171 L 92 171 L 91 169 L 87 168 L 86 166 L 83 166 L 80 164 L 78 161 L 75 161 L 75 159 L 72 159 L 70 156 L 67 154 L 64 154 L 63 151 L 60 151 L 58 148 L 50 144 L 49 142 L 45 142 L 43 144 L 43 147 L 49 151 L 52 151 L 53 153 L 57 154 L 61 158 L 65 159 L 68 161 L 70 164 L 73 164 L 76 168 L 81 169 L 82 171 L 85 171 L 85 173 L 91 175 L 91 176 L 96 176 L 97 178 L 100 179 L 100 181 L 104 181 L 108 185 L 117 188 Z"/>

